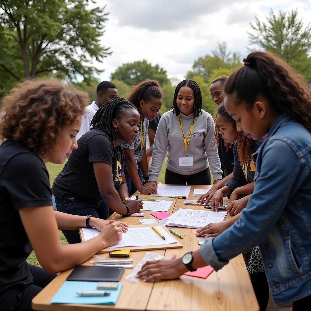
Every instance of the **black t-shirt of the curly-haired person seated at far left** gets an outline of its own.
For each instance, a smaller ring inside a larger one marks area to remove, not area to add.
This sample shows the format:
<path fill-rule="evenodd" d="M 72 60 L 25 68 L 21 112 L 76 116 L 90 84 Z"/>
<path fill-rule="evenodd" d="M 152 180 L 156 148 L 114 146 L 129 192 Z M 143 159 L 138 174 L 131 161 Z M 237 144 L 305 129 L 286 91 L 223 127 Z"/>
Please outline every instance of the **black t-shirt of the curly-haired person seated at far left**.
<path fill-rule="evenodd" d="M 13 140 L 3 142 L 0 146 L 0 297 L 11 286 L 33 281 L 26 264 L 32 247 L 18 211 L 52 206 L 51 196 L 49 174 L 41 158 Z"/>

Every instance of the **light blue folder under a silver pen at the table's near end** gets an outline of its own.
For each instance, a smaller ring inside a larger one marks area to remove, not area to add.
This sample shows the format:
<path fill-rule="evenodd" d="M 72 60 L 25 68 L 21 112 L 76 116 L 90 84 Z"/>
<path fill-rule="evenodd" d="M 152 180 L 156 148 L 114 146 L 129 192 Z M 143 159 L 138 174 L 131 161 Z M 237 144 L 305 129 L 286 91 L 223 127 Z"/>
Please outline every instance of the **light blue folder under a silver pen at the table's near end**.
<path fill-rule="evenodd" d="M 122 282 L 119 282 L 118 289 L 106 290 L 109 296 L 79 296 L 79 291 L 93 291 L 97 289 L 98 282 L 65 281 L 55 296 L 50 301 L 51 304 L 116 304 Z"/>

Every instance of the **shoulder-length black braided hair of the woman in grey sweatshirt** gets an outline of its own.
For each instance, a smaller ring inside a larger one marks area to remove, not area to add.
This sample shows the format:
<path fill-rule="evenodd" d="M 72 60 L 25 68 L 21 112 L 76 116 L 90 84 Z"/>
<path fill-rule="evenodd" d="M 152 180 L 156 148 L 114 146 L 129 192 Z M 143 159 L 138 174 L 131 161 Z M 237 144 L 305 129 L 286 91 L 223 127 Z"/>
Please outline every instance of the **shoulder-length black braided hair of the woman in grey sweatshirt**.
<path fill-rule="evenodd" d="M 175 94 L 174 94 L 173 107 L 171 108 L 171 109 L 173 109 L 173 114 L 176 114 L 178 116 L 180 113 L 180 110 L 177 106 L 177 96 L 178 96 L 179 90 L 183 86 L 188 86 L 193 91 L 193 95 L 194 95 L 193 118 L 197 118 L 200 113 L 202 114 L 202 109 L 203 109 L 202 94 L 201 94 L 201 90 L 200 90 L 200 87 L 198 86 L 197 82 L 195 82 L 193 80 L 183 80 L 179 83 L 178 86 L 176 86 Z"/>

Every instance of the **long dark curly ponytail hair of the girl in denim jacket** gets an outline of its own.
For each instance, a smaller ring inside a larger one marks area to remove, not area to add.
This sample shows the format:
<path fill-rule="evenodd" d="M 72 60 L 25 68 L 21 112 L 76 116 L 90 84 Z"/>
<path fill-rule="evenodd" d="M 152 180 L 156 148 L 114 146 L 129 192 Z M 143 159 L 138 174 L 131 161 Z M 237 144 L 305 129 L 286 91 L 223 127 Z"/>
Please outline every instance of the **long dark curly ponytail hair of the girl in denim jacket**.
<path fill-rule="evenodd" d="M 225 83 L 225 94 L 237 104 L 253 107 L 258 96 L 266 98 L 277 113 L 287 113 L 311 132 L 311 92 L 302 76 L 269 52 L 252 52 Z"/>

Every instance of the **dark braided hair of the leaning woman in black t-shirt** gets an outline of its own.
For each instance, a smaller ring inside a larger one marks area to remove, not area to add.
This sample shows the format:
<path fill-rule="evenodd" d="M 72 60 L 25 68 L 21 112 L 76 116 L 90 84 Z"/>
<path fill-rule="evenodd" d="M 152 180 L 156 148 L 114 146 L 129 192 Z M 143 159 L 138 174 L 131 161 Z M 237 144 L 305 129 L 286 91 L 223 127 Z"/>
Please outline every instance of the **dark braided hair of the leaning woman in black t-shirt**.
<path fill-rule="evenodd" d="M 92 129 L 101 128 L 114 140 L 116 140 L 117 135 L 115 128 L 112 125 L 112 120 L 119 119 L 120 116 L 128 109 L 137 110 L 137 108 L 132 103 L 122 97 L 115 97 L 112 100 L 108 100 L 106 104 L 102 105 L 100 109 L 97 110 L 94 117 L 92 118 Z"/>

